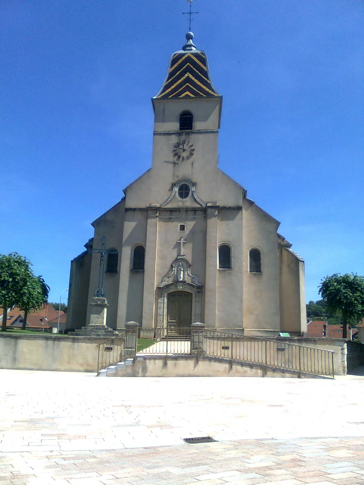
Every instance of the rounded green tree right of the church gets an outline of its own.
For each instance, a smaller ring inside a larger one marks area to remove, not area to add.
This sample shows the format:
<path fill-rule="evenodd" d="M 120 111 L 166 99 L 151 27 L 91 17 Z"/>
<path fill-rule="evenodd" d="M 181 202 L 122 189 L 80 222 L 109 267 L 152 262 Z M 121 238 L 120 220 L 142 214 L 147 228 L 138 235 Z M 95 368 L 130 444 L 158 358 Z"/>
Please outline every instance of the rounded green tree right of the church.
<path fill-rule="evenodd" d="M 358 322 L 364 316 L 364 277 L 335 273 L 321 280 L 318 291 L 329 311 L 341 312 L 343 339 L 346 339 L 347 323 Z"/>

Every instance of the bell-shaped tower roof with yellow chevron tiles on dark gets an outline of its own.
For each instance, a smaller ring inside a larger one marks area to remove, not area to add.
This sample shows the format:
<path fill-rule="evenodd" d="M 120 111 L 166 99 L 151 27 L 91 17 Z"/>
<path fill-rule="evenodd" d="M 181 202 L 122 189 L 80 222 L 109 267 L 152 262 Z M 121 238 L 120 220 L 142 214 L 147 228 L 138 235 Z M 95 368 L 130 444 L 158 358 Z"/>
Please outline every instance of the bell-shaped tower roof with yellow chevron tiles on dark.
<path fill-rule="evenodd" d="M 165 81 L 154 99 L 220 96 L 211 81 L 206 54 L 196 49 L 193 38 L 194 34 L 187 32 L 182 50 L 172 54 Z"/>

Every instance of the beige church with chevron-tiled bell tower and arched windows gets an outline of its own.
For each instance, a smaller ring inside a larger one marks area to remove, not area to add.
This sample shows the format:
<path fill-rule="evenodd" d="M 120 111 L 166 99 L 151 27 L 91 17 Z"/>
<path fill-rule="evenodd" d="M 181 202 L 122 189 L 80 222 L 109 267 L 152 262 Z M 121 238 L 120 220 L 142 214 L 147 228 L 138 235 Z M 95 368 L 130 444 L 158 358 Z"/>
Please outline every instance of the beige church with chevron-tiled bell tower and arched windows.
<path fill-rule="evenodd" d="M 193 39 L 188 32 L 172 54 L 152 98 L 151 168 L 92 223 L 93 238 L 71 261 L 69 328 L 86 325 L 92 298 L 105 296 L 106 325 L 120 331 L 130 321 L 163 331 L 202 322 L 300 336 L 304 261 L 280 223 L 218 168 L 222 96 Z"/>

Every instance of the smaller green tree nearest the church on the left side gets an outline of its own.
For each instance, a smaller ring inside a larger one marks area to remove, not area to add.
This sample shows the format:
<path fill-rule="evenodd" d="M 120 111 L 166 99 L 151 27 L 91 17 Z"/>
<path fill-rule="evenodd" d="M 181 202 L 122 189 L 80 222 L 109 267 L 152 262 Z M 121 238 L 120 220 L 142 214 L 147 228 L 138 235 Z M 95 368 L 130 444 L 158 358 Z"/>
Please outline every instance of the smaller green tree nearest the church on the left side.
<path fill-rule="evenodd" d="M 50 287 L 42 276 L 34 276 L 33 273 L 29 276 L 17 301 L 17 306 L 24 310 L 22 330 L 25 330 L 28 312 L 39 310 L 47 303 L 49 291 Z"/>

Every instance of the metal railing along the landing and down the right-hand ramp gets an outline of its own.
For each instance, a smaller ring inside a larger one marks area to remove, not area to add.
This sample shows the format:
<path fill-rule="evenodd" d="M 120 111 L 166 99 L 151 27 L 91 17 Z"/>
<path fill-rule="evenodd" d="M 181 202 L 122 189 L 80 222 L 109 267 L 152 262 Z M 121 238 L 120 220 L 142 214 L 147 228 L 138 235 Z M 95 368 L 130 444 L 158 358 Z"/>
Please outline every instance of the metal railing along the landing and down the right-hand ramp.
<path fill-rule="evenodd" d="M 309 347 L 283 340 L 263 339 L 212 329 L 140 328 L 139 355 L 192 354 L 215 357 L 278 369 L 334 378 L 332 350 Z"/>

